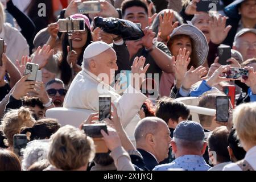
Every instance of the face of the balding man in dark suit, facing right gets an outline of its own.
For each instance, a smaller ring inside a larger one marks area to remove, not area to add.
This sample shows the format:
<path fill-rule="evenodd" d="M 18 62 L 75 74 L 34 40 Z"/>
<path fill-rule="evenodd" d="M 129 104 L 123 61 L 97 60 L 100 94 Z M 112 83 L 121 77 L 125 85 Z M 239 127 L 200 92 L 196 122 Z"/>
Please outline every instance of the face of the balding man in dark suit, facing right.
<path fill-rule="evenodd" d="M 158 132 L 154 135 L 156 144 L 154 147 L 155 157 L 158 162 L 168 158 L 168 152 L 171 144 L 170 130 L 166 123 L 158 124 Z"/>

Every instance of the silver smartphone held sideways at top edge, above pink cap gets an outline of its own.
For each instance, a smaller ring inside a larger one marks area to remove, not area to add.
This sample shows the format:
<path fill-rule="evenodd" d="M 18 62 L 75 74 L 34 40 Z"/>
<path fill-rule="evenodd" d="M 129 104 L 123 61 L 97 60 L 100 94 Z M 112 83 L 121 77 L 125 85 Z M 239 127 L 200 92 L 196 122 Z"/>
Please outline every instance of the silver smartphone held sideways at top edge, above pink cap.
<path fill-rule="evenodd" d="M 98 1 L 77 2 L 77 9 L 80 14 L 100 13 L 101 3 Z"/>

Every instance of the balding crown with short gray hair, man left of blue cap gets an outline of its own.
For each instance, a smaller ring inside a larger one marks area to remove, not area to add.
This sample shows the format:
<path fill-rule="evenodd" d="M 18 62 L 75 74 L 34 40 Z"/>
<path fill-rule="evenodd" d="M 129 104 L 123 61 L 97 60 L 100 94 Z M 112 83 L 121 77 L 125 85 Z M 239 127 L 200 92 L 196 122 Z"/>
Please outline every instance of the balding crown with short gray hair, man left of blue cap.
<path fill-rule="evenodd" d="M 166 122 L 158 117 L 146 117 L 139 121 L 134 133 L 136 142 L 142 139 L 144 140 L 147 134 L 156 134 L 159 131 L 159 123 L 164 123 L 166 125 Z"/>

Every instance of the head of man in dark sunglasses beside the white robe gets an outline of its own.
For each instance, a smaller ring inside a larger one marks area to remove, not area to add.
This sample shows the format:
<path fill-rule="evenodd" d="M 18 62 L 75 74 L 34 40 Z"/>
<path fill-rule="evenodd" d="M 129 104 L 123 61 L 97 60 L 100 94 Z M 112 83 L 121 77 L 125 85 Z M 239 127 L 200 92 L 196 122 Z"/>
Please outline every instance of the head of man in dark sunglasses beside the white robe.
<path fill-rule="evenodd" d="M 63 107 L 63 101 L 67 93 L 67 90 L 64 89 L 63 81 L 57 78 L 48 81 L 46 84 L 46 91 L 49 97 L 52 98 L 55 107 Z"/>

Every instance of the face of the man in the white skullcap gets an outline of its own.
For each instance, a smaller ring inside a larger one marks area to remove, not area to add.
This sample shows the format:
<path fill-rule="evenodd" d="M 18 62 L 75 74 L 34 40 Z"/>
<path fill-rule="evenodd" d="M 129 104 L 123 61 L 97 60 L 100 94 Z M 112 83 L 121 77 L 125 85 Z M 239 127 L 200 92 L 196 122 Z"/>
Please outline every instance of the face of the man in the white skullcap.
<path fill-rule="evenodd" d="M 115 71 L 118 70 L 117 56 L 115 55 L 114 49 L 109 48 L 105 52 L 102 52 L 93 62 L 95 64 L 95 67 L 93 68 L 94 74 L 103 78 L 102 81 L 106 84 L 112 84 Z"/>

